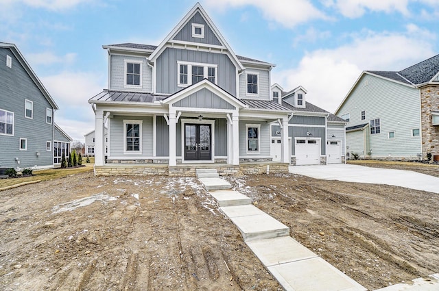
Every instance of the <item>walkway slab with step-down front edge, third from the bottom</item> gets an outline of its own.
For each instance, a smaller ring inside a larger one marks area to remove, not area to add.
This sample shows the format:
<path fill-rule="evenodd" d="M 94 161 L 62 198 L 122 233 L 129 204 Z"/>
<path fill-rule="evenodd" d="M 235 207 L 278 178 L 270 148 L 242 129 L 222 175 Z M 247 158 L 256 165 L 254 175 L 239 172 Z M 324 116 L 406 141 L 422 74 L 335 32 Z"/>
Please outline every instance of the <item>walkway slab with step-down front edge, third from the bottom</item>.
<path fill-rule="evenodd" d="M 272 216 L 265 212 L 251 216 L 230 217 L 230 219 L 235 223 L 239 231 L 241 231 L 245 242 L 264 238 L 289 236 L 289 227 L 278 222 L 278 220 L 272 218 Z"/>

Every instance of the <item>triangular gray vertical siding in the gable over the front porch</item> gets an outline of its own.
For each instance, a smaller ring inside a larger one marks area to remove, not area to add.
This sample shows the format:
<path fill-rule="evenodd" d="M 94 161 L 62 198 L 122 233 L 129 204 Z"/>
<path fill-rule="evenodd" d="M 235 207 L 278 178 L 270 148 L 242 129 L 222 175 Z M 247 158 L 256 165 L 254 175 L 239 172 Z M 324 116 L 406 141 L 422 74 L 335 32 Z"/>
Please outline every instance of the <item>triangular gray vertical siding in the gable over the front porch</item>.
<path fill-rule="evenodd" d="M 235 106 L 224 101 L 217 94 L 203 88 L 195 92 L 185 99 L 173 104 L 176 107 L 196 107 L 196 108 L 215 108 L 215 109 L 231 109 L 235 110 Z"/>

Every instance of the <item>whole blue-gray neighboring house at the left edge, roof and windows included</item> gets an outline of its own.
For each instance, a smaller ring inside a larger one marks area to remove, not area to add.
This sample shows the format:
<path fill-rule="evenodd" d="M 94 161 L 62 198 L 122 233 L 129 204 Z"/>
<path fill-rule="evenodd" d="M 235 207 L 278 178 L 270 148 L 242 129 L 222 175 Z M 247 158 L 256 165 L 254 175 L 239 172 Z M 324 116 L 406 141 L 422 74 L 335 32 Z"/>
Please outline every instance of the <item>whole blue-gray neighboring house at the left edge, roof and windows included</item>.
<path fill-rule="evenodd" d="M 0 42 L 0 168 L 54 168 L 71 139 L 55 123 L 54 99 L 13 44 Z M 59 137 L 59 138 L 58 138 Z"/>

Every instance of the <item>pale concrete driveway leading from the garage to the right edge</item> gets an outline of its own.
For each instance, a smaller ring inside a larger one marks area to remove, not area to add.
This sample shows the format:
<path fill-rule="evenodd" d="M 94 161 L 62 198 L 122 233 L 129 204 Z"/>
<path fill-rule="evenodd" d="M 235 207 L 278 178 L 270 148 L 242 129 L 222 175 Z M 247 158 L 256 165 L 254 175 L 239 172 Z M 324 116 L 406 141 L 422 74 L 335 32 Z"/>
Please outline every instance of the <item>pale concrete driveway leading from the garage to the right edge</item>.
<path fill-rule="evenodd" d="M 316 179 L 401 186 L 439 194 L 438 177 L 413 172 L 412 170 L 329 164 L 322 166 L 289 166 L 289 173 Z"/>

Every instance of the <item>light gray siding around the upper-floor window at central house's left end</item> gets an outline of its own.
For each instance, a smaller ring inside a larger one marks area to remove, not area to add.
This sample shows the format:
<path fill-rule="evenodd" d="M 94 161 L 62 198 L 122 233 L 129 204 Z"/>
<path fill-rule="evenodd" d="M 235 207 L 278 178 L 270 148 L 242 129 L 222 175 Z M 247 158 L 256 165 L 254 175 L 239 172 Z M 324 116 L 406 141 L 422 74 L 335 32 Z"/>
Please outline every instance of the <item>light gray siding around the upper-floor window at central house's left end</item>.
<path fill-rule="evenodd" d="M 134 61 L 142 63 L 142 87 L 125 87 L 125 62 Z M 130 90 L 152 92 L 152 68 L 147 65 L 145 57 L 135 55 L 111 55 L 110 56 L 110 90 Z"/>

